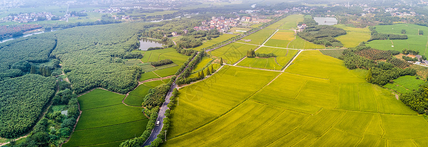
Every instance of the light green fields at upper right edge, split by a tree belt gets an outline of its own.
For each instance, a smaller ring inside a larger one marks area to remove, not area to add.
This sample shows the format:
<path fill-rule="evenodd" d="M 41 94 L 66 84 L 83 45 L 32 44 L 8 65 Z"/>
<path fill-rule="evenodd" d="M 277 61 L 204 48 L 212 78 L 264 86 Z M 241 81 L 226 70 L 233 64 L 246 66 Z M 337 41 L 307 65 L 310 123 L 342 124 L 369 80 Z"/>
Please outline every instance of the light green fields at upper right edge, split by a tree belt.
<path fill-rule="evenodd" d="M 376 31 L 379 33 L 401 34 L 401 30 L 406 30 L 408 39 L 405 40 L 373 40 L 368 42 L 368 46 L 381 50 L 398 50 L 414 49 L 418 50 L 419 54 L 427 55 L 428 34 L 419 35 L 418 30 L 428 32 L 427 26 L 413 24 L 397 24 L 397 25 L 376 25 Z"/>

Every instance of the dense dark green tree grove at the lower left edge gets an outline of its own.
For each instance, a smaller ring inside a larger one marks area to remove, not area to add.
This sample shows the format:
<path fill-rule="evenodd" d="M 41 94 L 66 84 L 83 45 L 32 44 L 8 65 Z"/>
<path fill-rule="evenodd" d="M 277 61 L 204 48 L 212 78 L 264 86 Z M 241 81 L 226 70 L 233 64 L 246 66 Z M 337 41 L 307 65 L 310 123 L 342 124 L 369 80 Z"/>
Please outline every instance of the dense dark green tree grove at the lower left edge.
<path fill-rule="evenodd" d="M 55 88 L 55 78 L 37 74 L 0 81 L 0 136 L 12 138 L 28 132 Z"/>

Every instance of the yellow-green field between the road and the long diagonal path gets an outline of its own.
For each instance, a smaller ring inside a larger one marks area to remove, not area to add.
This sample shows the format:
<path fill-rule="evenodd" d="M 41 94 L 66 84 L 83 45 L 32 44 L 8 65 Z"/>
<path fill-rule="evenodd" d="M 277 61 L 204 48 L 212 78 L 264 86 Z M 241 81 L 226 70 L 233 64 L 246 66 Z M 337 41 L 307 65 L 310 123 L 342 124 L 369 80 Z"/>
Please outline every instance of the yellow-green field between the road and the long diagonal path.
<path fill-rule="evenodd" d="M 180 89 L 177 107 L 171 112 L 170 136 L 189 131 L 212 120 L 251 96 L 278 73 L 225 66 L 213 76 L 198 83 Z M 248 80 L 253 79 L 253 80 Z M 248 85 L 248 86 L 242 86 Z M 197 119 L 195 116 L 207 114 L 209 119 Z"/>

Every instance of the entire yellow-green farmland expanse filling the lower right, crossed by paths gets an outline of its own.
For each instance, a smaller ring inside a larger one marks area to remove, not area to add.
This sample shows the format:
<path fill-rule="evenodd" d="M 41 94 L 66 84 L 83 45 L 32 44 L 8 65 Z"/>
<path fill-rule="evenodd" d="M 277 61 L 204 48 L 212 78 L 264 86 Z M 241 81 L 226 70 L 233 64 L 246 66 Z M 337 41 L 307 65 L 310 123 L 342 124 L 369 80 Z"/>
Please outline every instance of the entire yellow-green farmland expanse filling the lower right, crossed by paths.
<path fill-rule="evenodd" d="M 257 72 L 226 66 L 181 88 L 165 147 L 424 144 L 420 138 L 427 136 L 428 122 L 423 116 L 388 90 L 367 83 L 364 70 L 348 70 L 343 61 L 320 51 L 303 51 L 284 73 L 264 71 L 258 76 L 277 76 L 274 79 L 260 82 L 243 74 L 250 71 Z M 231 91 L 235 94 L 228 94 Z M 241 102 L 231 102 L 234 97 Z M 236 106 L 227 107 L 230 103 Z"/>

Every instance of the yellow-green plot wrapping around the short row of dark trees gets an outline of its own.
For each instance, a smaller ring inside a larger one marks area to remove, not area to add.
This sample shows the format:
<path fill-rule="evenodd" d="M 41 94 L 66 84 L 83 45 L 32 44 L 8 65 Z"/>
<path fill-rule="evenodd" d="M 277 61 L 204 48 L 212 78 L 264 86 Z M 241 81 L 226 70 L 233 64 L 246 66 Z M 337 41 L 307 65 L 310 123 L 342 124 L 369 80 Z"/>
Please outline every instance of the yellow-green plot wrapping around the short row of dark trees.
<path fill-rule="evenodd" d="M 281 70 L 293 56 L 297 53 L 297 50 L 293 49 L 277 49 L 262 47 L 257 49 L 259 53 L 274 53 L 277 57 L 270 58 L 245 58 L 238 63 L 238 66 L 246 66 L 252 68 L 261 68 L 269 70 Z"/>

